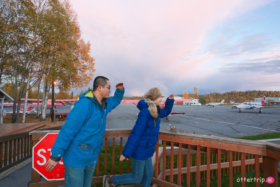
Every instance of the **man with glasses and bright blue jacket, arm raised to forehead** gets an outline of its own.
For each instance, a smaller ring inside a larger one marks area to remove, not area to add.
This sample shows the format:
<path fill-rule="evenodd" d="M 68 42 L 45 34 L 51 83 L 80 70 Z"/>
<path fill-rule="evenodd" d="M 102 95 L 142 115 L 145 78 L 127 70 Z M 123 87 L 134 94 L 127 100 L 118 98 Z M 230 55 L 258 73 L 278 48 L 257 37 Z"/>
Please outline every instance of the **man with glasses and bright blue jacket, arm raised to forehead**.
<path fill-rule="evenodd" d="M 115 95 L 109 97 L 109 79 L 96 77 L 93 90 L 79 96 L 57 135 L 45 167 L 47 171 L 52 171 L 63 156 L 67 187 L 91 186 L 105 133 L 106 115 L 120 104 L 125 93 L 122 82 L 118 82 L 116 88 Z"/>

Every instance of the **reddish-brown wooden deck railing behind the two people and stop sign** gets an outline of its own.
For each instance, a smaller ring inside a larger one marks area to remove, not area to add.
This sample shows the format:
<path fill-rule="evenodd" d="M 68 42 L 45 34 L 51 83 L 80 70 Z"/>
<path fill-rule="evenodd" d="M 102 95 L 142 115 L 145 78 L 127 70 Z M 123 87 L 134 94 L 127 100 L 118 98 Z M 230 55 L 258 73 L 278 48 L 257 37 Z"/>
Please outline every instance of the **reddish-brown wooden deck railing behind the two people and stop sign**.
<path fill-rule="evenodd" d="M 33 145 L 48 132 L 31 132 Z M 128 137 L 130 132 L 131 129 L 106 129 L 105 153 L 102 159 L 98 157 L 97 172 L 92 178 L 93 183 L 102 182 L 99 171 L 104 171 L 104 174 L 121 174 L 122 162 L 115 160 L 114 157 L 121 155 L 125 145 L 123 138 Z M 113 143 L 111 173 L 107 170 L 108 139 Z M 115 152 L 116 140 L 120 144 L 119 153 Z M 159 142 L 162 144 L 159 145 Z M 227 186 L 233 186 L 233 175 L 241 173 L 244 179 L 246 171 L 253 171 L 256 179 L 260 179 L 261 172 L 264 179 L 272 176 L 275 182 L 272 184 L 264 182 L 263 186 L 278 187 L 277 160 L 280 160 L 280 146 L 274 143 L 161 131 L 155 150 L 153 187 L 177 187 L 183 183 L 190 186 L 191 182 L 199 186 L 201 181 L 206 181 L 207 186 L 210 186 L 210 179 L 214 178 L 218 181 L 217 186 L 221 186 L 224 176 L 229 176 Z M 101 162 L 104 162 L 104 168 L 100 168 Z M 123 162 L 127 162 L 126 171 L 129 173 L 129 161 Z M 114 173 L 116 165 L 120 165 L 120 170 Z M 29 187 L 52 187 L 64 184 L 64 181 L 41 181 L 41 176 L 34 169 L 31 171 Z M 240 180 L 240 186 L 245 186 L 244 180 Z M 260 186 L 260 180 L 256 181 L 255 186 Z"/>

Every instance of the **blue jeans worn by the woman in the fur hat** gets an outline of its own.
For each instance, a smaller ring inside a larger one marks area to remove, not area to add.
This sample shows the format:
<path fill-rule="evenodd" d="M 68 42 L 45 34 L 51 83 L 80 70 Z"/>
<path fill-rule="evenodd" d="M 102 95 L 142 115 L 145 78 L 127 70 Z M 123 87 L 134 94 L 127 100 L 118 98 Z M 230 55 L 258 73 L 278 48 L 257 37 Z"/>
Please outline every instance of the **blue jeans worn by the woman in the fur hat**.
<path fill-rule="evenodd" d="M 116 185 L 132 184 L 141 182 L 143 177 L 141 187 L 149 187 L 153 174 L 152 157 L 148 157 L 146 160 L 132 158 L 132 173 L 113 176 L 112 181 Z"/>

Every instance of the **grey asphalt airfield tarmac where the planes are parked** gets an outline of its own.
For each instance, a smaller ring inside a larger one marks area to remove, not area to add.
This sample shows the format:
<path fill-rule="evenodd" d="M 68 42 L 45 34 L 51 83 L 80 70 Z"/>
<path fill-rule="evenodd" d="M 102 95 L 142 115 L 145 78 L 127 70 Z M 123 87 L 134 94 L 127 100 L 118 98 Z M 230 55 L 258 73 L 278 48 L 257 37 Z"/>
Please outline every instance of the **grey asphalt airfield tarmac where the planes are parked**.
<path fill-rule="evenodd" d="M 56 113 L 70 111 L 71 105 L 55 108 Z M 11 111 L 12 108 L 5 108 Z M 50 110 L 48 109 L 47 112 Z M 106 129 L 133 128 L 139 110 L 133 103 L 121 103 L 107 115 Z M 174 105 L 172 112 L 186 112 L 161 119 L 160 129 L 169 128 L 169 124 L 177 130 L 189 133 L 211 134 L 221 137 L 242 137 L 280 131 L 280 108 L 259 110 L 242 110 L 230 107 Z"/>

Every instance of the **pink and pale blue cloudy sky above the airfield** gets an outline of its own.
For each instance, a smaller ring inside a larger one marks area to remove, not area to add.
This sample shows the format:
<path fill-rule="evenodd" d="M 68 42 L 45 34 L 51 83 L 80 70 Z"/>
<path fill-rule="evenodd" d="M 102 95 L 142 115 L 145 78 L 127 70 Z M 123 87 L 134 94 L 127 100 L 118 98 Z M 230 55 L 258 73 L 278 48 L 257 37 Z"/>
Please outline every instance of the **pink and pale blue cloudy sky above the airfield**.
<path fill-rule="evenodd" d="M 164 96 L 194 87 L 199 94 L 280 91 L 280 1 L 70 3 L 91 43 L 95 77 L 107 77 L 112 87 L 123 82 L 125 96 L 152 87 Z"/>

